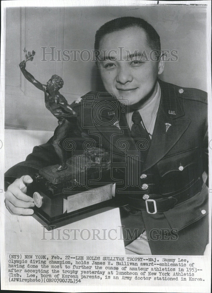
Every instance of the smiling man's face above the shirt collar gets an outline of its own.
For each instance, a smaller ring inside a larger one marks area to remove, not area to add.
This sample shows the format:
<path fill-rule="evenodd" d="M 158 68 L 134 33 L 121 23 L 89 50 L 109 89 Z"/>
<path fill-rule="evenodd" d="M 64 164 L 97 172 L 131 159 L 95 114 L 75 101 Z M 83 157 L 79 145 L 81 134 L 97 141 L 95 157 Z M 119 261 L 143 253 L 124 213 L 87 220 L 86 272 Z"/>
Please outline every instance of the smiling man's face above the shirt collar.
<path fill-rule="evenodd" d="M 98 66 L 108 92 L 116 98 L 128 99 L 129 105 L 155 95 L 157 75 L 163 72 L 164 63 L 152 60 L 157 60 L 157 53 L 150 54 L 152 49 L 147 45 L 142 28 L 126 28 L 105 35 L 99 50 L 100 59 L 104 61 L 98 61 Z M 144 51 L 149 61 L 142 58 Z M 152 56 L 151 60 L 149 56 Z"/>

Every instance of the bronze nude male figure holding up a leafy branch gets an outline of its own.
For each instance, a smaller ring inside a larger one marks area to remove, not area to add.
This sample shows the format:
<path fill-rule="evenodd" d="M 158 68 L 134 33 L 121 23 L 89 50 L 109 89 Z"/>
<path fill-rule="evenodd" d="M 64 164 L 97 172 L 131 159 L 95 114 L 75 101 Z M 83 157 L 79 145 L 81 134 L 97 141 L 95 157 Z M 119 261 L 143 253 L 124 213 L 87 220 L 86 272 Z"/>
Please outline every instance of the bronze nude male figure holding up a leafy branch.
<path fill-rule="evenodd" d="M 26 50 L 24 50 L 24 52 L 26 53 Z M 50 80 L 47 82 L 47 85 L 45 85 L 41 84 L 34 78 L 34 76 L 32 76 L 32 74 L 26 71 L 26 62 L 28 60 L 32 61 L 33 56 L 34 55 L 29 54 L 28 58 L 26 54 L 26 61 L 22 61 L 19 64 L 19 67 L 24 77 L 36 86 L 36 88 L 44 92 L 46 108 L 58 119 L 58 126 L 54 132 L 52 145 L 60 158 L 60 166 L 53 168 L 52 172 L 59 172 L 67 169 L 65 151 L 60 147 L 61 140 L 68 134 L 70 122 L 67 119 L 77 117 L 77 113 L 69 106 L 65 97 L 59 92 L 59 89 L 62 88 L 64 84 L 60 76 L 56 74 L 52 75 Z"/>

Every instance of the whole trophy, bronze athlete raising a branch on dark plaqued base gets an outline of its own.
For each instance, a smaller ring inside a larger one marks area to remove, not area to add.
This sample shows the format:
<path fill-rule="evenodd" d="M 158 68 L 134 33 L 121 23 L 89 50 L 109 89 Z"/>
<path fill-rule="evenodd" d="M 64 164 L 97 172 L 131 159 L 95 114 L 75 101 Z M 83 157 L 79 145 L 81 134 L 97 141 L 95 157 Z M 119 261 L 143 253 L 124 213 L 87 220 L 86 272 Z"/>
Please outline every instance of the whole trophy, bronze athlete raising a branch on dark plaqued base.
<path fill-rule="evenodd" d="M 44 92 L 45 106 L 58 120 L 51 143 L 60 164 L 41 168 L 27 187 L 27 194 L 35 202 L 34 217 L 51 230 L 120 206 L 120 200 L 112 196 L 109 153 L 82 135 L 77 113 L 59 92 L 64 84 L 62 78 L 54 74 L 46 85 L 41 84 L 25 69 L 35 51 L 24 52 L 26 60 L 19 67 L 25 78 Z M 73 128 L 74 133 L 81 134 L 77 138 L 69 138 Z"/>

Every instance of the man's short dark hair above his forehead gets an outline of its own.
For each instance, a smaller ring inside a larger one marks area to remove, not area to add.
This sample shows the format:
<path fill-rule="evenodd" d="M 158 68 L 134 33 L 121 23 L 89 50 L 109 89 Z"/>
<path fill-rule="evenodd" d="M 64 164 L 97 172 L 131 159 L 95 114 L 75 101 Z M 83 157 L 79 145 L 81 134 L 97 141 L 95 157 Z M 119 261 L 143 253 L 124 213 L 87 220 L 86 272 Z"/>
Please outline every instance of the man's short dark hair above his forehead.
<path fill-rule="evenodd" d="M 94 50 L 99 50 L 99 43 L 104 35 L 136 26 L 145 30 L 147 45 L 149 45 L 152 50 L 158 50 L 160 53 L 160 37 L 153 26 L 142 18 L 131 16 L 116 18 L 103 24 L 96 31 Z"/>

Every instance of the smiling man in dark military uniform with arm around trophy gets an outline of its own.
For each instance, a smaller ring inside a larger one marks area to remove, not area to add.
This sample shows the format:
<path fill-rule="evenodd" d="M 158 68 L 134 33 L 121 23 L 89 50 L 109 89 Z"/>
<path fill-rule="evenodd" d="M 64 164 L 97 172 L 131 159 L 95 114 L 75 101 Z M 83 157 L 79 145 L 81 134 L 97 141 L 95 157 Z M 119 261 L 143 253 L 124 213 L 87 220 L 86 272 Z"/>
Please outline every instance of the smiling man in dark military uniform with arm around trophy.
<path fill-rule="evenodd" d="M 123 179 L 123 184 L 117 181 L 116 195 L 128 203 L 120 208 L 126 253 L 202 255 L 208 243 L 206 93 L 158 79 L 164 70 L 160 37 L 143 19 L 123 17 L 104 24 L 96 32 L 95 49 L 107 93 L 90 92 L 71 107 L 76 123 L 111 151 L 117 166 L 136 154 L 123 172 L 113 172 L 113 178 Z M 154 58 L 143 59 L 143 52 Z M 90 96 L 93 101 L 116 98 L 118 112 L 106 106 L 96 126 L 94 107 L 81 106 Z M 128 101 L 127 109 L 120 96 Z M 6 172 L 10 183 L 19 178 L 5 195 L 11 212 L 33 213 L 26 183 L 35 170 L 56 161 L 50 139 Z"/>

